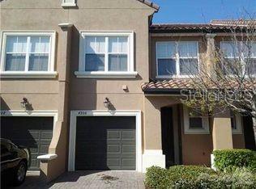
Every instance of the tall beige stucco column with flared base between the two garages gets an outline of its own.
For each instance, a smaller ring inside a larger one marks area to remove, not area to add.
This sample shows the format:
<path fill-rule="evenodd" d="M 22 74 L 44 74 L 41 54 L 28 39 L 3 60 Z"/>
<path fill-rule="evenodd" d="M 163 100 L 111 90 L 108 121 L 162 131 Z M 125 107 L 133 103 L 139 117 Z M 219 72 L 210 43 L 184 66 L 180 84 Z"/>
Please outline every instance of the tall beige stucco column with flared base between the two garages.
<path fill-rule="evenodd" d="M 66 171 L 67 134 L 68 134 L 68 95 L 70 79 L 70 43 L 73 24 L 61 23 L 58 32 L 58 121 L 54 126 L 53 139 L 49 145 L 49 153 L 58 157 L 41 162 L 41 175 L 49 182 Z"/>

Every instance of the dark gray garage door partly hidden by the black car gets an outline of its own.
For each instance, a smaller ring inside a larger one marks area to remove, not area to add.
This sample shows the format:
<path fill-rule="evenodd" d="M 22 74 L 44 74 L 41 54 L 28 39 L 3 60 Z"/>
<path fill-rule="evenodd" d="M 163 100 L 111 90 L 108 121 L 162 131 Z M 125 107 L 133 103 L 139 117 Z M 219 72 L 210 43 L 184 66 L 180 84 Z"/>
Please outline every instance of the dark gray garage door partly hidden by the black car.
<path fill-rule="evenodd" d="M 1 117 L 1 137 L 24 145 L 31 153 L 29 170 L 39 170 L 37 156 L 48 153 L 53 137 L 53 117 Z"/>

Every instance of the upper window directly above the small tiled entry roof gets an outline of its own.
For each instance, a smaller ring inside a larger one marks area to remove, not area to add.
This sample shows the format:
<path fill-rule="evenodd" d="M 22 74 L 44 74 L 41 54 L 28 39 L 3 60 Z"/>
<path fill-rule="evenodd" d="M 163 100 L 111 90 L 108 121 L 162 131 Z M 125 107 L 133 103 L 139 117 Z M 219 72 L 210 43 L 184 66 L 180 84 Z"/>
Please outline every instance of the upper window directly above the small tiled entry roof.
<path fill-rule="evenodd" d="M 157 76 L 185 77 L 198 73 L 198 42 L 156 42 Z"/>

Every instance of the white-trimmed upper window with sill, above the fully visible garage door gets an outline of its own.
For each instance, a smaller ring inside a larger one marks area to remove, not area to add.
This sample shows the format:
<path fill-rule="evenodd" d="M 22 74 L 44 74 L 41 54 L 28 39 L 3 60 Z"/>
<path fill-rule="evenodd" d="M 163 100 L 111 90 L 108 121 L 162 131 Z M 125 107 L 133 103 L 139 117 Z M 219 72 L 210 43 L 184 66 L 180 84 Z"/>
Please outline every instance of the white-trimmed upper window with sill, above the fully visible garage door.
<path fill-rule="evenodd" d="M 133 32 L 82 32 L 77 77 L 134 78 L 133 36 Z"/>

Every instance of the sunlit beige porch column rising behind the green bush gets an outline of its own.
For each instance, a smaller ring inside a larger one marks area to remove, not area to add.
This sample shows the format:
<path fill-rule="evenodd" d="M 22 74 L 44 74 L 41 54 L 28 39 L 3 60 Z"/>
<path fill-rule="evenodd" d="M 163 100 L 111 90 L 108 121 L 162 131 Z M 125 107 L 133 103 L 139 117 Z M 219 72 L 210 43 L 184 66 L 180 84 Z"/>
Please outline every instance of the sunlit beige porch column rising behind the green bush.
<path fill-rule="evenodd" d="M 233 149 L 231 120 L 226 117 L 215 117 L 212 126 L 213 150 Z"/>

